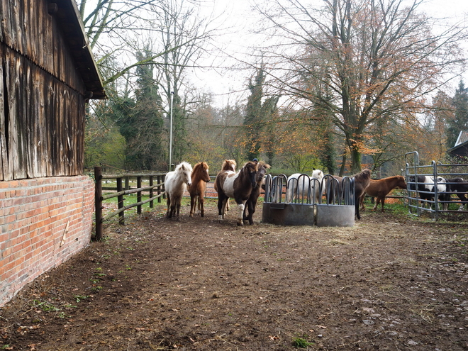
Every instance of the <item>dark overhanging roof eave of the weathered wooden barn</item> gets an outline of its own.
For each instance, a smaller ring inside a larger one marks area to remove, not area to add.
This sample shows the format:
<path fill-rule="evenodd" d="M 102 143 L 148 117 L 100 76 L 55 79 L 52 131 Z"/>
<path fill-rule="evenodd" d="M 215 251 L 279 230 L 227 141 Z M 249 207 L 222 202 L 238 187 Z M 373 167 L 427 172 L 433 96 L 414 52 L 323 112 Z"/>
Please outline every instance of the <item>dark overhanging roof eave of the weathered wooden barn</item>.
<path fill-rule="evenodd" d="M 91 99 L 106 99 L 101 75 L 89 47 L 77 3 L 75 0 L 57 0 L 55 3 L 57 12 L 54 16 L 62 28 L 85 87 L 93 93 Z"/>

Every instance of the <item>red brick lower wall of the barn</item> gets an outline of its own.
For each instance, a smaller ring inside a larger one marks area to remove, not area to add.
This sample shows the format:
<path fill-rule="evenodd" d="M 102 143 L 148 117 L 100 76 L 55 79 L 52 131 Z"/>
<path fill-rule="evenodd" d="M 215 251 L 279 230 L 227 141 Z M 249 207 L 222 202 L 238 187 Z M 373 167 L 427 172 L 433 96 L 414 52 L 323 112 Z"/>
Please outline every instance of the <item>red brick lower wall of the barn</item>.
<path fill-rule="evenodd" d="M 0 182 L 0 306 L 91 240 L 94 180 Z"/>

